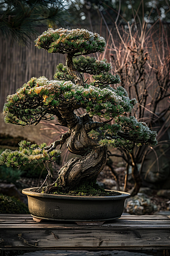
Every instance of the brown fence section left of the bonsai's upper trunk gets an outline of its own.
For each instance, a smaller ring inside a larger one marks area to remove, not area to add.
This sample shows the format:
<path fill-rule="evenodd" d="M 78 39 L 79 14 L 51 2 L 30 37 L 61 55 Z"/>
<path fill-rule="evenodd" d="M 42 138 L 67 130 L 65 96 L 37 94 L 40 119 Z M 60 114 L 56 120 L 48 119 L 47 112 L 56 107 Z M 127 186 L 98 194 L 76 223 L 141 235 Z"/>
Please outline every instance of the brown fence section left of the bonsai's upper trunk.
<path fill-rule="evenodd" d="M 0 39 L 0 110 L 8 94 L 13 94 L 31 77 L 45 76 L 53 79 L 58 63 L 65 61 L 61 54 L 49 54 L 37 49 L 33 43 L 29 47 L 10 46 L 10 42 Z"/>

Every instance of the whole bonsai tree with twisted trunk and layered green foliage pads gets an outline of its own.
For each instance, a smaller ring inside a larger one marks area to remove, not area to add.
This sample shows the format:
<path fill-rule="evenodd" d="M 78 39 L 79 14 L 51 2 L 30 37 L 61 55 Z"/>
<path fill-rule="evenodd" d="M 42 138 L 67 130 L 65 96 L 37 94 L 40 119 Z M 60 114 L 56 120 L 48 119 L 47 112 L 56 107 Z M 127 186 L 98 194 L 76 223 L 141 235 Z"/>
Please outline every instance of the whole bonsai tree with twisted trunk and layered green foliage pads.
<path fill-rule="evenodd" d="M 49 53 L 67 53 L 66 64 L 57 66 L 55 80 L 33 77 L 15 94 L 8 96 L 3 109 L 5 122 L 24 127 L 37 125 L 42 119 L 50 121 L 56 115 L 59 125 L 68 130 L 49 146 L 20 142 L 19 151 L 6 150 L 1 154 L 1 164 L 20 166 L 42 162 L 48 170 L 45 179 L 48 181 L 51 175 L 48 162 L 56 160 L 60 152 L 56 147 L 60 145 L 61 149 L 68 139 L 68 150 L 82 157 L 70 159 L 59 170 L 57 180 L 47 184 L 45 192 L 54 192 L 58 188 L 69 192 L 80 184 L 96 181 L 106 163 L 107 146 L 130 152 L 134 143 L 137 146 L 157 143 L 155 131 L 151 131 L 146 123 L 128 117 L 137 101 L 130 100 L 121 86 L 111 87 L 120 83 L 118 75 L 109 73 L 111 64 L 105 59 L 99 61 L 95 57 L 83 56 L 103 52 L 104 38 L 84 29 L 50 28 L 35 43 L 37 48 Z M 94 81 L 84 81 L 83 73 L 92 75 Z M 85 109 L 86 113 L 76 115 L 74 111 L 79 108 Z M 94 122 L 94 115 L 101 121 Z M 114 123 L 109 124 L 113 119 Z"/>

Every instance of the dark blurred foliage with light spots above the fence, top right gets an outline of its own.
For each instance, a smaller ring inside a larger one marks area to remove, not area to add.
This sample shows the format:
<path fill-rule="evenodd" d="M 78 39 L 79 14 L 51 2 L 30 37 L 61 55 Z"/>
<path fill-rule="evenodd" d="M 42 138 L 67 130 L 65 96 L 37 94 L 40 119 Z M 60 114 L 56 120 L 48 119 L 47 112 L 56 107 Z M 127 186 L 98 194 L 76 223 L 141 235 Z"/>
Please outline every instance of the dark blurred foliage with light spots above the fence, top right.
<path fill-rule="evenodd" d="M 133 22 L 134 14 L 137 12 L 137 19 L 149 22 L 162 20 L 170 22 L 169 1 L 146 1 L 138 0 L 66 0 L 69 13 L 74 16 L 74 23 L 84 26 L 91 26 L 99 23 L 101 13 L 104 15 L 107 24 L 113 24 L 118 15 L 118 23 L 125 24 Z M 141 6 L 141 8 L 140 8 Z M 132 8 L 133 7 L 133 8 Z M 152 10 L 152 11 L 151 11 Z"/>

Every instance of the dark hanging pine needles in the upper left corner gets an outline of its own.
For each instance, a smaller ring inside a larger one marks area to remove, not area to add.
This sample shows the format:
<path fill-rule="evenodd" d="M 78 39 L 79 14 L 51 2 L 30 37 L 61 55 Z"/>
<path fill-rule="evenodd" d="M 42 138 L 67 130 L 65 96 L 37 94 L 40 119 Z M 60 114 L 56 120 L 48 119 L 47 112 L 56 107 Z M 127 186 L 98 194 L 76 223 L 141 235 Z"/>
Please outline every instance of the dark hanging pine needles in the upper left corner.
<path fill-rule="evenodd" d="M 27 45 L 39 34 L 39 26 L 65 27 L 70 15 L 64 0 L 1 0 L 0 17 L 3 38 Z"/>

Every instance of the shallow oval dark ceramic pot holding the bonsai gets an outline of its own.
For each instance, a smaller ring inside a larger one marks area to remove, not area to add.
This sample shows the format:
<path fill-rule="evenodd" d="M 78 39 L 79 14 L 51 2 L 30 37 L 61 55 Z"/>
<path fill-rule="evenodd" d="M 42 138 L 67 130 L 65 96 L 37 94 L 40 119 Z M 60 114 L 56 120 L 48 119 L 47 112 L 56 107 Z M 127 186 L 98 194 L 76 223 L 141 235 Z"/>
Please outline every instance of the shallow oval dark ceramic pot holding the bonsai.
<path fill-rule="evenodd" d="M 25 188 L 29 212 L 33 217 L 56 221 L 107 221 L 120 218 L 129 193 L 116 196 L 67 196 L 35 192 Z"/>

